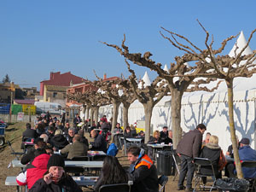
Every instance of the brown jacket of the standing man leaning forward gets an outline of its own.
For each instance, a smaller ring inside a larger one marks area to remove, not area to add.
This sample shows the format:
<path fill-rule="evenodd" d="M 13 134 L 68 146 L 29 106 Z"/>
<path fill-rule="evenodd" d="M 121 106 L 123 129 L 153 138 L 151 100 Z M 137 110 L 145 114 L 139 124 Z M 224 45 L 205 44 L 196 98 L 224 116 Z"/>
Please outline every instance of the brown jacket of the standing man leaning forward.
<path fill-rule="evenodd" d="M 192 158 L 198 157 L 201 151 L 202 134 L 197 129 L 187 132 L 177 144 L 177 154 Z"/>

